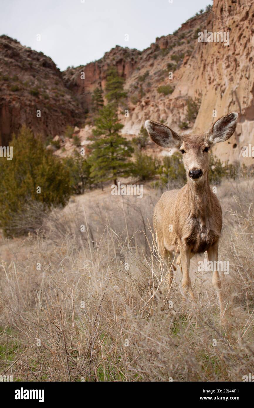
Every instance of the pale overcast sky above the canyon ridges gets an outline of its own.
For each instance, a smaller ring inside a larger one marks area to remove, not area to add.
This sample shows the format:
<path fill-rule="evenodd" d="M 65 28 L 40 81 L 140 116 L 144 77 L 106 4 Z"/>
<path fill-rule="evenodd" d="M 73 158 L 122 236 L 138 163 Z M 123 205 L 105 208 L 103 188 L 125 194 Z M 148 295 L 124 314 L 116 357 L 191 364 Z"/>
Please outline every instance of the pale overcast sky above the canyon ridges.
<path fill-rule="evenodd" d="M 49 55 L 64 70 L 102 58 L 117 44 L 147 48 L 156 37 L 173 33 L 212 4 L 209 0 L 170 1 L 0 0 L 0 33 Z"/>

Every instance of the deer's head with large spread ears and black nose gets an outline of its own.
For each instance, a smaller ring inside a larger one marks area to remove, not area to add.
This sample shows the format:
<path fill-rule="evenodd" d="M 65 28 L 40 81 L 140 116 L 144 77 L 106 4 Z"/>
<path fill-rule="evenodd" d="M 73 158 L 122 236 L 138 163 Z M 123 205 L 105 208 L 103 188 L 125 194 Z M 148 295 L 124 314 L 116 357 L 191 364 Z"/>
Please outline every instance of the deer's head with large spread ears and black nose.
<path fill-rule="evenodd" d="M 236 129 L 238 113 L 232 112 L 218 119 L 209 132 L 203 135 L 179 135 L 168 126 L 146 120 L 146 129 L 156 144 L 166 148 L 176 148 L 183 155 L 186 175 L 198 182 L 208 172 L 208 151 L 215 143 L 225 142 Z"/>

